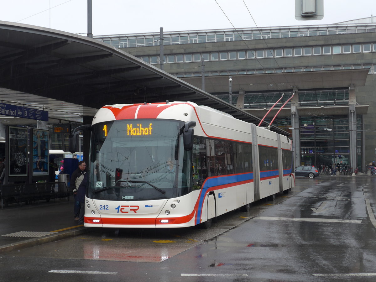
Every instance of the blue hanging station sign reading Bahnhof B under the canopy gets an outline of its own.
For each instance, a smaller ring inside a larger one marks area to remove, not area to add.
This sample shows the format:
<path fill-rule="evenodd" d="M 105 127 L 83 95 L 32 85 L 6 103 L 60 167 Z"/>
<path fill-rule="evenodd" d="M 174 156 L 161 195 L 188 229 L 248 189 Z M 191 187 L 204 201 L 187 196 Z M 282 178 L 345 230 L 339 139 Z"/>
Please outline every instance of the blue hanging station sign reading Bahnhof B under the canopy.
<path fill-rule="evenodd" d="M 11 104 L 0 103 L 0 115 L 48 121 L 48 112 Z"/>

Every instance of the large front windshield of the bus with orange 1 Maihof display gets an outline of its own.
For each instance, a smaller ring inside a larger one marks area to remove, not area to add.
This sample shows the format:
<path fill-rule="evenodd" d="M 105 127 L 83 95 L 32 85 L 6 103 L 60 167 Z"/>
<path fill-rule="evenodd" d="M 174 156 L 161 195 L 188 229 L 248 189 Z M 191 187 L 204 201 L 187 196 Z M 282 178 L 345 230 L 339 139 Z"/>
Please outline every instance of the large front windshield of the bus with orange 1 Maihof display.
<path fill-rule="evenodd" d="M 178 197 L 191 187 L 191 152 L 184 122 L 115 120 L 92 126 L 88 197 L 152 200 Z"/>

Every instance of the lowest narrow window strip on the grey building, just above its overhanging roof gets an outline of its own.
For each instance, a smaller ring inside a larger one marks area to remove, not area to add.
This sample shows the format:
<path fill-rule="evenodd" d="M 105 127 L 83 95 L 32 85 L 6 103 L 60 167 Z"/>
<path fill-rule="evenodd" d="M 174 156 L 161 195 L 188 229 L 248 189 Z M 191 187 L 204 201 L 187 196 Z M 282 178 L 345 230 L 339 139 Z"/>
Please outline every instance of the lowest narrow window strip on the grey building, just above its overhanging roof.
<path fill-rule="evenodd" d="M 325 71 L 325 70 L 357 70 L 361 68 L 369 68 L 368 73 L 376 73 L 376 64 L 369 65 L 337 65 L 337 66 L 315 66 L 315 67 L 295 67 L 295 68 L 268 68 L 268 69 L 256 69 L 256 70 L 237 70 L 237 71 L 208 71 L 205 72 L 205 76 L 226 76 L 236 74 L 261 74 L 261 73 L 291 73 L 295 71 Z M 197 70 L 197 69 L 196 69 Z M 187 70 L 189 71 L 189 70 Z M 176 77 L 198 77 L 201 76 L 201 72 L 198 73 L 177 73 L 173 74 Z"/>

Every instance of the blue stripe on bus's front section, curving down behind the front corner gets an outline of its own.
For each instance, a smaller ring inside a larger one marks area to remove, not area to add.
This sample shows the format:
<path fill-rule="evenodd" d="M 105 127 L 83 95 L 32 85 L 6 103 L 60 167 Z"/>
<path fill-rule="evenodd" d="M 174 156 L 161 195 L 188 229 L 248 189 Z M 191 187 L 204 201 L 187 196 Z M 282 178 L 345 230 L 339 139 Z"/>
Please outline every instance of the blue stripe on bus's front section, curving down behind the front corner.
<path fill-rule="evenodd" d="M 231 183 L 237 183 L 247 180 L 253 180 L 253 173 L 244 173 L 244 174 L 233 174 L 233 175 L 223 175 L 223 176 L 217 176 L 213 178 L 206 179 L 204 186 L 202 187 L 200 199 L 199 199 L 199 206 L 197 208 L 197 219 L 196 224 L 200 223 L 201 219 L 201 212 L 202 212 L 202 205 L 206 196 L 206 192 L 209 188 L 220 186 L 220 185 L 226 185 Z"/>

